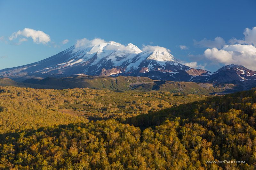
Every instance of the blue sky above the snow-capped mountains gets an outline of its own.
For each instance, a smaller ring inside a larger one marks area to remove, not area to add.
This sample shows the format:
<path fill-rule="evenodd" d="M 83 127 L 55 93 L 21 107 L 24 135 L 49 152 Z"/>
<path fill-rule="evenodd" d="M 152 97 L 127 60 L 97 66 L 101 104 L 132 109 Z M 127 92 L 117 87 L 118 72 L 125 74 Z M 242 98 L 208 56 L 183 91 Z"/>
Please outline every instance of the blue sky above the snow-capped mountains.
<path fill-rule="evenodd" d="M 37 62 L 82 38 L 102 38 L 139 48 L 162 46 L 179 61 L 210 71 L 229 63 L 256 70 L 255 8 L 255 0 L 0 0 L 0 69 Z M 10 40 L 24 28 L 40 30 L 50 41 L 35 43 L 22 35 Z"/>

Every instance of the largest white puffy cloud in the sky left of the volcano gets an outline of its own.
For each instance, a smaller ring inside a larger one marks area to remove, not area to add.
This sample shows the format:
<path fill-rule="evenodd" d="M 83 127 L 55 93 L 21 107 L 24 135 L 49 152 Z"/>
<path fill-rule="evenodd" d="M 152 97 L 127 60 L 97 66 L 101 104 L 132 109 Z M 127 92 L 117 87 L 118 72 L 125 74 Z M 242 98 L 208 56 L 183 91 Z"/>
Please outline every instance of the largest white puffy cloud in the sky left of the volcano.
<path fill-rule="evenodd" d="M 18 36 L 24 36 L 24 37 L 31 37 L 33 41 L 37 44 L 42 43 L 46 44 L 47 42 L 50 42 L 50 36 L 43 31 L 36 31 L 31 28 L 24 28 L 23 30 L 19 30 L 17 32 L 12 33 L 12 35 L 9 37 L 9 40 L 12 41 L 16 39 Z"/>

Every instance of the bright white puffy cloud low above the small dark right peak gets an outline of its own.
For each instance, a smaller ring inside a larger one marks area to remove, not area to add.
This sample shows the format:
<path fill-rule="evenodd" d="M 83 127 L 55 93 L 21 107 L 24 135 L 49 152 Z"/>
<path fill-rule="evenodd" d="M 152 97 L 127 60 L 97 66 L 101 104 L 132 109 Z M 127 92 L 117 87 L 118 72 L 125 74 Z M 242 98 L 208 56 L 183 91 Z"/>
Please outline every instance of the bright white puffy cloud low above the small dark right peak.
<path fill-rule="evenodd" d="M 253 45 L 225 45 L 220 50 L 208 48 L 204 51 L 204 56 L 216 62 L 239 64 L 248 69 L 256 70 L 256 47 Z"/>

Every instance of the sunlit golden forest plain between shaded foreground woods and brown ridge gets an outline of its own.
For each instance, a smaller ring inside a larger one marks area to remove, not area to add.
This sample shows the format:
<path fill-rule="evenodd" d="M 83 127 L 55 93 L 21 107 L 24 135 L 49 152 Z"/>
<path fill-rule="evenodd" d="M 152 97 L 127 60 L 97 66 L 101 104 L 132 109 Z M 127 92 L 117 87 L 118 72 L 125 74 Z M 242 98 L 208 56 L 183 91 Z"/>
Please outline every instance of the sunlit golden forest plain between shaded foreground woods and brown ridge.
<path fill-rule="evenodd" d="M 158 91 L 0 87 L 0 134 L 88 121 L 86 118 L 125 121 L 128 117 L 201 98 L 206 96 Z"/>

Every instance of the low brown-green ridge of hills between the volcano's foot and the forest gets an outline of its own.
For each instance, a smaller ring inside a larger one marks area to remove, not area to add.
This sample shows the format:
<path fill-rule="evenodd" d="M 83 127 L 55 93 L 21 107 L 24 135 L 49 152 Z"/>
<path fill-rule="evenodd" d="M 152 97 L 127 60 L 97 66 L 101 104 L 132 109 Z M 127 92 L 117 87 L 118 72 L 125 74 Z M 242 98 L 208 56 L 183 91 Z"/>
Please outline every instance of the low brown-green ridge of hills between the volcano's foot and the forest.
<path fill-rule="evenodd" d="M 44 79 L 29 78 L 23 82 L 15 82 L 9 78 L 0 79 L 0 86 L 18 86 L 43 89 L 67 89 L 67 88 L 92 88 L 108 90 L 142 90 L 142 91 L 166 91 L 181 92 L 185 94 L 215 94 L 230 93 L 242 89 L 251 88 L 239 85 L 239 83 L 195 83 L 152 80 L 147 77 L 92 77 L 76 76 L 68 78 Z"/>

